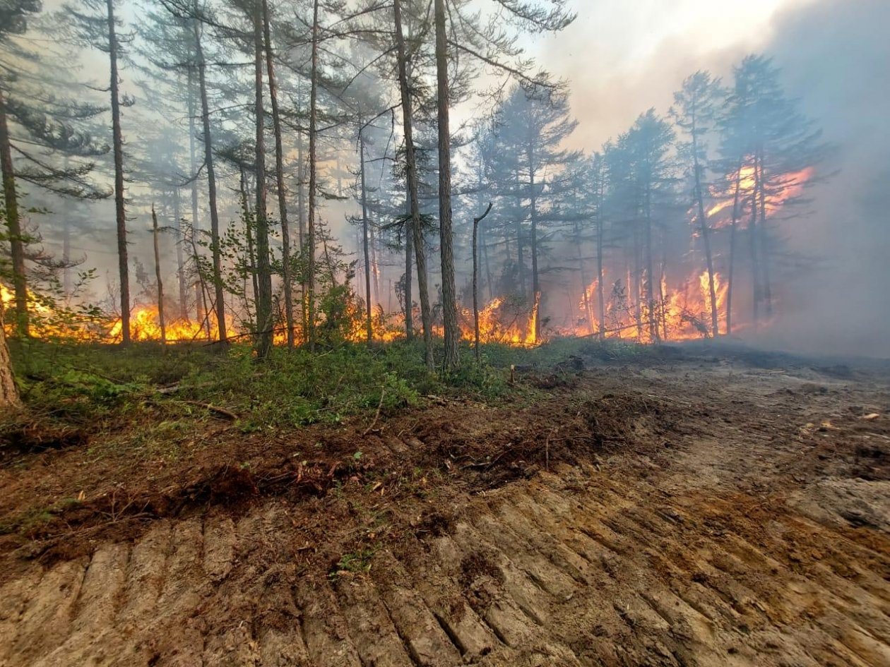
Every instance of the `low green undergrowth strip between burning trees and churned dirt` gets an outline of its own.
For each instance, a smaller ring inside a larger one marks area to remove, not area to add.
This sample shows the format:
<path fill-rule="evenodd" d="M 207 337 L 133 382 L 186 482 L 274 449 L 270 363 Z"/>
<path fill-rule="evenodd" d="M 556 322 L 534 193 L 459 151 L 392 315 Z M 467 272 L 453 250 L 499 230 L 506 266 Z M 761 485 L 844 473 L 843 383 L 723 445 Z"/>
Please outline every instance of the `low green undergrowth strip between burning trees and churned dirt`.
<path fill-rule="evenodd" d="M 204 425 L 220 418 L 213 408 L 237 415 L 234 424 L 242 432 L 274 433 L 355 415 L 385 418 L 427 396 L 533 398 L 534 390 L 509 383 L 511 365 L 546 369 L 570 356 L 631 358 L 649 351 L 621 342 L 563 339 L 533 350 L 484 345 L 481 364 L 469 346 L 461 354 L 457 372 L 430 374 L 419 342 L 372 348 L 347 343 L 316 354 L 276 348 L 258 363 L 247 345 L 219 353 L 204 345 L 139 343 L 120 349 L 12 341 L 28 420 L 103 434 L 93 438 L 101 445 L 91 446 L 91 456 L 101 457 L 113 440 L 134 455 L 169 460 L 206 444 Z M 20 423 L 0 418 L 0 443 L 16 428 Z"/>

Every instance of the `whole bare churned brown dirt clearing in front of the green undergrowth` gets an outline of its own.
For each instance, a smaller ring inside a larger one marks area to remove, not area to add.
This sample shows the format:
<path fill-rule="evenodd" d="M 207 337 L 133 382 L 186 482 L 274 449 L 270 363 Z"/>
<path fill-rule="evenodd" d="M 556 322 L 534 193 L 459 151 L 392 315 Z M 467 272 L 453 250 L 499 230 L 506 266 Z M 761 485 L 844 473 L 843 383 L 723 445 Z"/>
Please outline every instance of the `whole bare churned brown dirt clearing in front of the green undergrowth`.
<path fill-rule="evenodd" d="M 579 366 L 176 455 L 12 443 L 0 665 L 890 664 L 886 367 Z"/>

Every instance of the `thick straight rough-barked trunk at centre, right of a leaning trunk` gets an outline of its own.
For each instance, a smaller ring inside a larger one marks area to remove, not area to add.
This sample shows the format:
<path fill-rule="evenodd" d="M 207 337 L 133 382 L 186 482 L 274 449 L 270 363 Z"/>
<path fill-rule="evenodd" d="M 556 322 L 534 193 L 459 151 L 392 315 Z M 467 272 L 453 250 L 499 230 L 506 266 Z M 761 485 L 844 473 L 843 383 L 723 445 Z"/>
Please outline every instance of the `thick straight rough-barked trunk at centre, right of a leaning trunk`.
<path fill-rule="evenodd" d="M 448 36 L 445 0 L 435 0 L 436 80 L 439 91 L 439 237 L 442 272 L 442 319 L 445 325 L 445 368 L 460 366 L 460 326 L 454 277 L 454 232 L 451 229 L 451 135 L 449 131 Z"/>

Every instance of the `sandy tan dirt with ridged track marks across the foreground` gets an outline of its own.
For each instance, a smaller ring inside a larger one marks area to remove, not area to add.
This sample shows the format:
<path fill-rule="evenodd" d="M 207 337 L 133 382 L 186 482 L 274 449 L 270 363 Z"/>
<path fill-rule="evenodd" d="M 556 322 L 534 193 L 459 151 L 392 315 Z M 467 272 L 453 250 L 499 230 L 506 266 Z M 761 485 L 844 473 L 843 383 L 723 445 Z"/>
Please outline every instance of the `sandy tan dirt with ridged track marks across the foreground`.
<path fill-rule="evenodd" d="M 280 508 L 162 521 L 5 584 L 0 664 L 890 664 L 886 538 L 882 553 L 777 510 L 831 545 L 826 564 L 716 527 L 725 499 L 696 494 L 542 473 L 330 580 L 278 560 Z"/>

